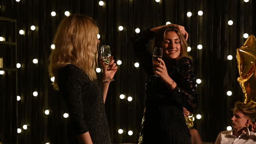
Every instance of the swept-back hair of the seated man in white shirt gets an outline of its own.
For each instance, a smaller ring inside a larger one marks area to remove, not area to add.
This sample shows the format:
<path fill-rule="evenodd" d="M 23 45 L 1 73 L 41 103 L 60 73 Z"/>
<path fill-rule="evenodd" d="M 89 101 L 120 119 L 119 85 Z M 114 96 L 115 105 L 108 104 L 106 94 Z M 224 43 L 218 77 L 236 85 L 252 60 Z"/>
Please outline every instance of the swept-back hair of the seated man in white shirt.
<path fill-rule="evenodd" d="M 255 121 L 256 118 L 256 105 L 251 103 L 251 104 L 245 104 L 242 103 L 241 101 L 237 101 L 235 103 L 235 108 L 233 109 L 234 112 L 240 111 L 243 113 L 243 115 L 246 115 L 249 117 L 251 122 Z"/>

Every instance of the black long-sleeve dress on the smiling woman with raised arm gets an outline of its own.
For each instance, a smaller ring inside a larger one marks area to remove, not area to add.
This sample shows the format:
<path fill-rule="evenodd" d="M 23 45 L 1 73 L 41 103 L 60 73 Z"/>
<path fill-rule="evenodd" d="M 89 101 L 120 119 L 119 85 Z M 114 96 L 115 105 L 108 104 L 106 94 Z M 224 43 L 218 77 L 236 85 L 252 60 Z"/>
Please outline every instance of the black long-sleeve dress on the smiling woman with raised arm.
<path fill-rule="evenodd" d="M 164 59 L 168 75 L 177 83 L 177 87 L 171 91 L 160 77 L 150 76 L 153 67 L 148 41 L 153 37 L 154 33 L 148 29 L 134 38 L 135 52 L 141 57 L 140 62 L 149 74 L 146 83 L 146 113 L 141 131 L 142 143 L 191 143 L 183 115 L 183 106 L 192 112 L 197 103 L 195 72 L 191 59 Z"/>

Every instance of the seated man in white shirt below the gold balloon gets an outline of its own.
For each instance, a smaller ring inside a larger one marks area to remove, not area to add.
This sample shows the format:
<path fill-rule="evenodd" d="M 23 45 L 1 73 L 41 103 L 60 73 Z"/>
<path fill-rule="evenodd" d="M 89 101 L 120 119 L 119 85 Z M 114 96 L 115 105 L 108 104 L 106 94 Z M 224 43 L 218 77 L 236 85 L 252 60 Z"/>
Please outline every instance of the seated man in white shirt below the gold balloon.
<path fill-rule="evenodd" d="M 215 144 L 256 143 L 256 105 L 237 101 L 233 109 L 232 130 L 219 133 Z M 249 127 L 252 131 L 249 130 Z"/>

